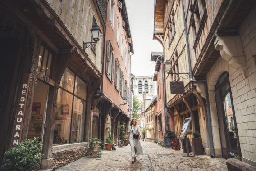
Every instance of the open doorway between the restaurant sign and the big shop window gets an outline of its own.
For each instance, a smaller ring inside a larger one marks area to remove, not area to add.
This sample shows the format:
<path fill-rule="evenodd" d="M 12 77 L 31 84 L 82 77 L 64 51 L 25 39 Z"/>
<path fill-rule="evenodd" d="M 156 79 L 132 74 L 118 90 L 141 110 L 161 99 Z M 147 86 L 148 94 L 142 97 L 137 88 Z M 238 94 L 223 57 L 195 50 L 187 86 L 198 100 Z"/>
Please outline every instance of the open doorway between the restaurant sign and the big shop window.
<path fill-rule="evenodd" d="M 32 103 L 27 139 L 37 137 L 43 142 L 48 91 L 49 86 L 43 82 L 38 81 L 37 84 L 35 84 L 35 94 Z"/>

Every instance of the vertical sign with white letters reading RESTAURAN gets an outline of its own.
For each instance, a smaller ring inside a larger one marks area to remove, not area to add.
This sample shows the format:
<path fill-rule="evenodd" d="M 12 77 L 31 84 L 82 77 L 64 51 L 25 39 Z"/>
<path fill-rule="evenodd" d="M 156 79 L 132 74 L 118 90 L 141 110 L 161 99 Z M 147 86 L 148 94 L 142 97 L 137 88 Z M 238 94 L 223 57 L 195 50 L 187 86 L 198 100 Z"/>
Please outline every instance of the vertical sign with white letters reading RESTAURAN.
<path fill-rule="evenodd" d="M 18 145 L 21 141 L 21 134 L 23 128 L 23 120 L 25 114 L 25 108 L 27 105 L 27 94 L 28 94 L 28 86 L 30 81 L 30 74 L 25 73 L 23 74 L 22 84 L 21 84 L 21 91 L 19 92 L 18 98 L 18 107 L 15 113 L 15 123 L 14 123 L 14 133 L 12 137 L 11 146 L 14 147 Z"/>

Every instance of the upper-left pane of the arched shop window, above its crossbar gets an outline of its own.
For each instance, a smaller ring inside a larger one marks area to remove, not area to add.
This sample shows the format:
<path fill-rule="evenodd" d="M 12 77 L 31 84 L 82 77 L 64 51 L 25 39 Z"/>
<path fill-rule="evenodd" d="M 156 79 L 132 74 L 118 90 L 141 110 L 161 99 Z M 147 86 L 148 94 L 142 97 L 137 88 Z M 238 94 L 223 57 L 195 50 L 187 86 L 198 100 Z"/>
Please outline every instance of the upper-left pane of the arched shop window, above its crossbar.
<path fill-rule="evenodd" d="M 73 93 L 74 82 L 75 82 L 75 74 L 72 71 L 70 71 L 68 68 L 66 68 L 61 78 L 59 86 Z"/>

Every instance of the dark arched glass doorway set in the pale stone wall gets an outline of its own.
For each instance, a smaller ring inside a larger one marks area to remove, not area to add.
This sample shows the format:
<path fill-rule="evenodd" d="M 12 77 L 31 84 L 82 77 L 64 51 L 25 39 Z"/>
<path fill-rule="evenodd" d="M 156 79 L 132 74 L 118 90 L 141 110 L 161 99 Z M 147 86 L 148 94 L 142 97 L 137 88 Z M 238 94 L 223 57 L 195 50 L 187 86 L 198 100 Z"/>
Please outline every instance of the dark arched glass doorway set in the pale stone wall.
<path fill-rule="evenodd" d="M 228 72 L 224 72 L 217 81 L 215 86 L 215 100 L 222 157 L 225 159 L 236 158 L 241 160 L 241 150 Z"/>

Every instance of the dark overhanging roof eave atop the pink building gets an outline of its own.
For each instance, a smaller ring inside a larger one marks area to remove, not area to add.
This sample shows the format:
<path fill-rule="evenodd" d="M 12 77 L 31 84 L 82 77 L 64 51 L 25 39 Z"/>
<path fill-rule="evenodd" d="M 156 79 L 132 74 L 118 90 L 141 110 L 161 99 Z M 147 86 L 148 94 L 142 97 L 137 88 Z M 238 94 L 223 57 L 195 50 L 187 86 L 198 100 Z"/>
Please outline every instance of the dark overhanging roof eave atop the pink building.
<path fill-rule="evenodd" d="M 132 39 L 125 0 L 120 0 L 120 1 L 122 2 L 121 13 L 122 13 L 123 20 L 125 22 L 125 31 L 127 32 L 127 37 Z M 133 52 L 133 40 L 130 43 L 130 52 L 134 53 Z"/>

